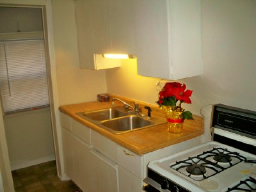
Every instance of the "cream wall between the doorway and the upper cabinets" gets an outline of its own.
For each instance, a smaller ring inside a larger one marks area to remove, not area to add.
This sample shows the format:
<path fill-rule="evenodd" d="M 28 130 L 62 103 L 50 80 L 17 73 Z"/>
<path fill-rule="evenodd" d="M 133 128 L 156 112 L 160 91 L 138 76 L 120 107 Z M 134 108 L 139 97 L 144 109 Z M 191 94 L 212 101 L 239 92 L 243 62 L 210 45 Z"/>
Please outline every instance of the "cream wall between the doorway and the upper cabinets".
<path fill-rule="evenodd" d="M 60 105 L 96 100 L 107 92 L 106 73 L 79 67 L 74 1 L 52 1 L 52 19 Z"/>

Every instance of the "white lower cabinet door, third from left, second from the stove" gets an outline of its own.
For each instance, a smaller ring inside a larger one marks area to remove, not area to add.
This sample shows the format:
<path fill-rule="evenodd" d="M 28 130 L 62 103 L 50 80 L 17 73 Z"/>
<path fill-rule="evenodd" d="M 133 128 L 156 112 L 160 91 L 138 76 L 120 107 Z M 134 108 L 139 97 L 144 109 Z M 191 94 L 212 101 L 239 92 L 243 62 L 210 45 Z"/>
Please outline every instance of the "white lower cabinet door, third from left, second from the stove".
<path fill-rule="evenodd" d="M 91 153 L 93 162 L 93 191 L 119 191 L 117 164 L 95 150 L 91 150 Z"/>

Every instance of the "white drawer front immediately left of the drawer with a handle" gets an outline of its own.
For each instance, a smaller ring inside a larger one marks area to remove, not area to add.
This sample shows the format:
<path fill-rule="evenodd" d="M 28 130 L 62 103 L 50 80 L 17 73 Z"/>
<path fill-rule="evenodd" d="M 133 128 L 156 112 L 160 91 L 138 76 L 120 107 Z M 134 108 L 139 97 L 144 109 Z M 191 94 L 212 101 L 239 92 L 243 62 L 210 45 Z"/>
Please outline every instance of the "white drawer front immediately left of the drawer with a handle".
<path fill-rule="evenodd" d="M 117 162 L 116 147 L 117 144 L 108 138 L 105 138 L 98 132 L 91 130 L 92 146 L 98 150 L 101 154 L 108 157 L 114 162 Z"/>

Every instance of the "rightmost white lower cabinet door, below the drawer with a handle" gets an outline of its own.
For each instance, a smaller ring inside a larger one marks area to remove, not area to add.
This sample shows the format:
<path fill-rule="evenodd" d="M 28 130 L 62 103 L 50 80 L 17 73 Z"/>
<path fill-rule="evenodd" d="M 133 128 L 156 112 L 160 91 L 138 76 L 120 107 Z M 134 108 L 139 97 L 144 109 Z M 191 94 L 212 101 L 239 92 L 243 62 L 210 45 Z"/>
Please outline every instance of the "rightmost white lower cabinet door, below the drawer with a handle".
<path fill-rule="evenodd" d="M 119 190 L 120 192 L 143 191 L 143 181 L 140 177 L 118 166 Z"/>

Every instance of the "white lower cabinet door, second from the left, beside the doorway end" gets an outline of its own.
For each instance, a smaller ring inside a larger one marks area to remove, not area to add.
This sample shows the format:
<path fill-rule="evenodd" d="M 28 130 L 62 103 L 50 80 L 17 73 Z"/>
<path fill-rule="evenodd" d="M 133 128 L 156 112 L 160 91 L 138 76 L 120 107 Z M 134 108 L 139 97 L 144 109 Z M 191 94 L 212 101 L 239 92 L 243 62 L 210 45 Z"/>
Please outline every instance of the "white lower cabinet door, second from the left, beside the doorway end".
<path fill-rule="evenodd" d="M 93 161 L 89 145 L 72 136 L 74 154 L 74 182 L 83 192 L 93 191 Z"/>

